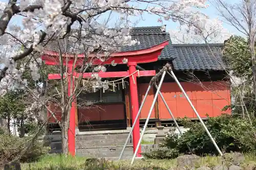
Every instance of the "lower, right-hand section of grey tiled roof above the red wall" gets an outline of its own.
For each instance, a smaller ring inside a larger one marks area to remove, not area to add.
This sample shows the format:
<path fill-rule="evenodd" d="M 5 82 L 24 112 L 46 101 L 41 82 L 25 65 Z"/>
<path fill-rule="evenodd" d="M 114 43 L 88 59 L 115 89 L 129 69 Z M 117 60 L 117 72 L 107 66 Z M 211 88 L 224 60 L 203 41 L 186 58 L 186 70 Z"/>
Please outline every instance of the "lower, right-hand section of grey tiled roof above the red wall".
<path fill-rule="evenodd" d="M 209 45 L 209 46 L 208 46 Z M 173 44 L 170 51 L 175 70 L 224 70 L 222 44 Z M 212 55 L 214 54 L 214 55 Z"/>

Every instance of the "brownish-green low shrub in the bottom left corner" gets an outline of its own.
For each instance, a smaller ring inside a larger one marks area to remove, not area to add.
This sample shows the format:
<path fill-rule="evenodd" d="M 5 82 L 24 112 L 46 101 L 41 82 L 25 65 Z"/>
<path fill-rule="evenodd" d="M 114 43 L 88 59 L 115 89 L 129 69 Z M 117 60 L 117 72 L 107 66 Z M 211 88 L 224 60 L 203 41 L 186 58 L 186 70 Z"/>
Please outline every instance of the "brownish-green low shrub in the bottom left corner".
<path fill-rule="evenodd" d="M 19 138 L 9 134 L 0 135 L 0 164 L 4 161 L 19 160 L 30 162 L 48 153 L 48 148 L 32 137 Z"/>

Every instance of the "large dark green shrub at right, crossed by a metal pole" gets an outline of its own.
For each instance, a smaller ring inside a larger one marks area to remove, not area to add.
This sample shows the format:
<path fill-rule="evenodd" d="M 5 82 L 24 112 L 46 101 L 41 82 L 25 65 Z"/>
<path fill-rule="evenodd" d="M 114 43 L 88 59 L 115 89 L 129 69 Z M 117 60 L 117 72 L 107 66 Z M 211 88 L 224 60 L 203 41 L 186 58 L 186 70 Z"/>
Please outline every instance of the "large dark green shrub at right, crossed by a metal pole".
<path fill-rule="evenodd" d="M 169 158 L 170 152 L 173 153 L 173 156 L 190 154 L 187 145 L 196 155 L 218 155 L 201 123 L 191 122 L 187 118 L 181 119 L 181 122 L 184 128 L 189 128 L 189 130 L 182 135 L 176 134 L 174 130 L 169 131 L 163 143 L 163 147 L 167 147 L 169 152 L 163 150 L 143 155 L 147 158 L 160 159 Z M 247 119 L 238 115 L 223 114 L 218 117 L 209 117 L 205 125 L 223 152 L 256 151 L 256 128 Z"/>

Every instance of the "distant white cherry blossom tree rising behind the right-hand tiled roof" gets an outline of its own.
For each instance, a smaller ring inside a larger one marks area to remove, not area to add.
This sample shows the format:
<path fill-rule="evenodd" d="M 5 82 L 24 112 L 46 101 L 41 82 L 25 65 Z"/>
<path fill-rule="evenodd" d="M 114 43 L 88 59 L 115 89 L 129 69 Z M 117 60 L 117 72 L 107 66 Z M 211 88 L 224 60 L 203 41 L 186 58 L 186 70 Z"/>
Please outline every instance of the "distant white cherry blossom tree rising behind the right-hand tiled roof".
<path fill-rule="evenodd" d="M 182 25 L 177 30 L 170 30 L 172 43 L 223 43 L 231 33 L 223 27 L 218 18 L 202 18 L 193 25 Z"/>

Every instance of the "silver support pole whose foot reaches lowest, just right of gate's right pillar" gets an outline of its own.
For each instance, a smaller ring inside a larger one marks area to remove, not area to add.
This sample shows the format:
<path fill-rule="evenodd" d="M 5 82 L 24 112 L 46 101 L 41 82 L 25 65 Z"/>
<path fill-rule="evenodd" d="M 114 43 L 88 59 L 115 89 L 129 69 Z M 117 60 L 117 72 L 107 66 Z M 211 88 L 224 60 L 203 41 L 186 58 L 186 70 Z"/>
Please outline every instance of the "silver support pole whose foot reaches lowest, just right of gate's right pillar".
<path fill-rule="evenodd" d="M 142 140 L 142 138 L 143 138 L 143 134 L 145 133 L 145 130 L 146 130 L 146 126 L 147 126 L 147 124 L 148 124 L 148 121 L 150 121 L 150 116 L 151 116 L 151 113 L 152 113 L 152 111 L 153 111 L 153 109 L 154 109 L 155 103 L 156 103 L 156 101 L 157 101 L 158 93 L 159 93 L 160 88 L 161 88 L 161 86 L 162 86 L 162 84 L 163 84 L 163 79 L 164 79 L 164 77 L 165 77 L 165 74 L 166 74 L 166 71 L 164 71 L 163 74 L 162 74 L 162 78 L 161 78 L 160 83 L 159 83 L 159 88 L 157 89 L 157 92 L 156 92 L 156 94 L 155 94 L 153 103 L 152 103 L 151 108 L 150 108 L 150 112 L 148 112 L 148 116 L 147 116 L 147 118 L 146 118 L 145 125 L 144 125 L 144 127 L 143 127 L 142 132 L 141 132 L 139 142 L 138 142 L 138 144 L 137 144 L 135 153 L 134 153 L 134 155 L 133 155 L 133 159 L 132 159 L 131 165 L 133 164 L 133 162 L 134 162 L 134 160 L 135 160 L 135 157 L 136 157 L 136 155 L 137 155 L 137 152 L 138 152 L 138 150 L 139 150 L 140 143 L 141 143 L 141 140 Z"/>

